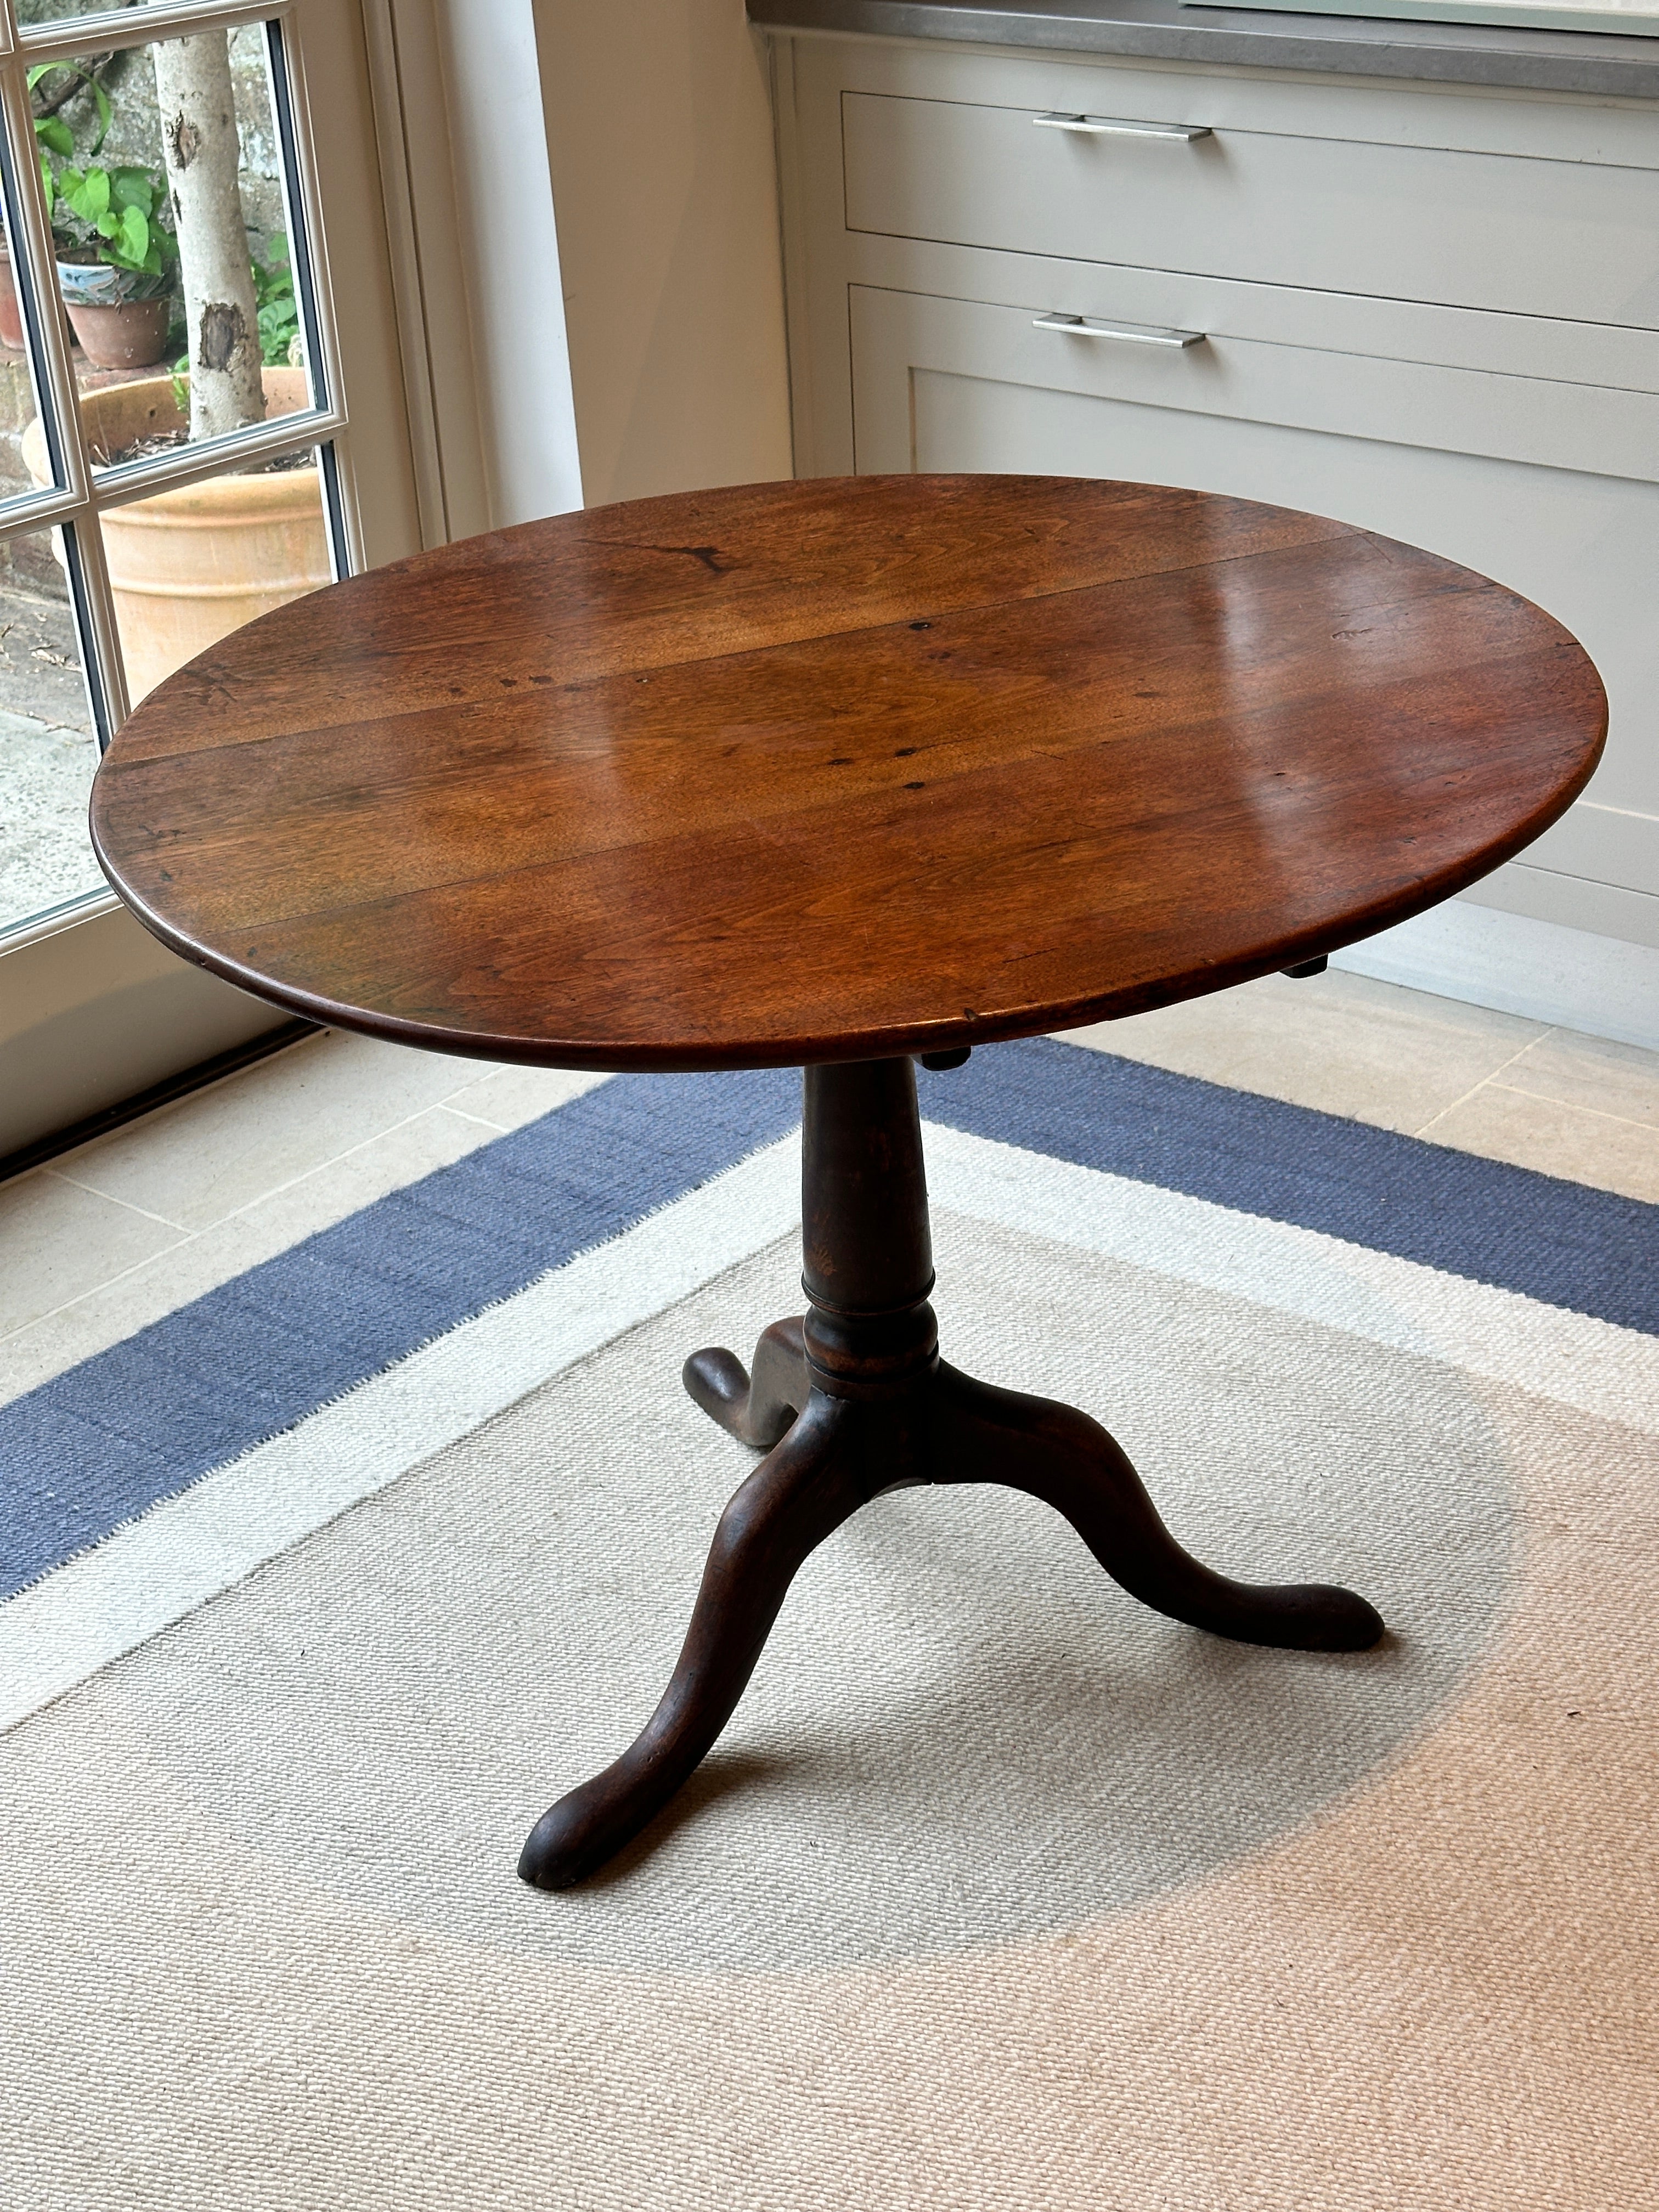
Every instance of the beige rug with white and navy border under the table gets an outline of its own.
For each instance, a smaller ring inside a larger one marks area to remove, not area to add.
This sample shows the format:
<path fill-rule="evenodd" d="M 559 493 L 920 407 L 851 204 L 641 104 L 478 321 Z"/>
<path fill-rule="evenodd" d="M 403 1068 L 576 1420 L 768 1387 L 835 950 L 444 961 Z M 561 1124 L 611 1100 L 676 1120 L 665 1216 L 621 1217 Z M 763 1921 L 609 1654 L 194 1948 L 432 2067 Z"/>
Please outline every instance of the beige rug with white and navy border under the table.
<path fill-rule="evenodd" d="M 922 1113 L 947 1356 L 1387 1644 L 878 1500 L 524 1889 L 799 1307 L 796 1079 L 606 1082 L 0 1407 L 0 2203 L 1659 2203 L 1659 1208 L 1055 1042 Z"/>

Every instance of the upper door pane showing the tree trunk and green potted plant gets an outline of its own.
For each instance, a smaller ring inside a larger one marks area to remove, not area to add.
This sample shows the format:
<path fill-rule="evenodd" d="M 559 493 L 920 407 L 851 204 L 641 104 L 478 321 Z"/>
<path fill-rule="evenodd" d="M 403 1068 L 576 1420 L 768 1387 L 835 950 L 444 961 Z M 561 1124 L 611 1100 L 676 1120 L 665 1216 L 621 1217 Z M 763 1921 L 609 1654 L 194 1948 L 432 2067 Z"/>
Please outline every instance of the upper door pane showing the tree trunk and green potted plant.
<path fill-rule="evenodd" d="M 310 407 L 263 27 L 84 53 L 31 100 L 95 460 Z"/>

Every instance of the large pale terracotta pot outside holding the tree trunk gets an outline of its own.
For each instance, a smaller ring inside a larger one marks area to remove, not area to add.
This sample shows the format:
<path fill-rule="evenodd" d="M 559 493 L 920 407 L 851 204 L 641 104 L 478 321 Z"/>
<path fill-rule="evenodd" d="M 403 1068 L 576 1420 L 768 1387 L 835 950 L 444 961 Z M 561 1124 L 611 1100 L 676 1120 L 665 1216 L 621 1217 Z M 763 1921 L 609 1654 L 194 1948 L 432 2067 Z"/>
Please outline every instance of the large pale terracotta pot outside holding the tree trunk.
<path fill-rule="evenodd" d="M 310 407 L 305 369 L 265 369 L 270 416 Z M 184 425 L 170 376 L 82 392 L 88 442 L 119 453 Z M 22 434 L 38 484 L 51 482 L 40 422 Z M 332 580 L 316 469 L 210 476 L 113 507 L 102 518 L 133 701 L 254 615 Z"/>

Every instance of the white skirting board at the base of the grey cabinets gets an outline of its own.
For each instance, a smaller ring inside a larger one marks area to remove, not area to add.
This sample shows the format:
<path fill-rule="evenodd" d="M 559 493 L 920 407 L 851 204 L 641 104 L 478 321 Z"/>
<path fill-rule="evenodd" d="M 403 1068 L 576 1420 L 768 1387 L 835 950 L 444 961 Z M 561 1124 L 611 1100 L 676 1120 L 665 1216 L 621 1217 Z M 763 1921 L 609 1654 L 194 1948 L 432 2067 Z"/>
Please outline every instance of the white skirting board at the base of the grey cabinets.
<path fill-rule="evenodd" d="M 1332 967 L 1659 1051 L 1659 951 L 1453 898 Z"/>

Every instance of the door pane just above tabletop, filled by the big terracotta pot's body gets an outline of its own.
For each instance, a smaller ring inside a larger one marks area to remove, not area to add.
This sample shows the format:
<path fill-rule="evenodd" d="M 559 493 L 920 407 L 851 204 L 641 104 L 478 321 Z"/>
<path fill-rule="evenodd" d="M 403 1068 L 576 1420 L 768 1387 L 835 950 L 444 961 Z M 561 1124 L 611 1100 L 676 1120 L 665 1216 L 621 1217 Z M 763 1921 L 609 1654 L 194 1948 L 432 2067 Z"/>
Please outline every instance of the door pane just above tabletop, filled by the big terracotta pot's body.
<path fill-rule="evenodd" d="M 106 507 L 102 531 L 135 706 L 243 622 L 334 580 L 314 449 Z"/>

